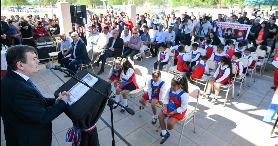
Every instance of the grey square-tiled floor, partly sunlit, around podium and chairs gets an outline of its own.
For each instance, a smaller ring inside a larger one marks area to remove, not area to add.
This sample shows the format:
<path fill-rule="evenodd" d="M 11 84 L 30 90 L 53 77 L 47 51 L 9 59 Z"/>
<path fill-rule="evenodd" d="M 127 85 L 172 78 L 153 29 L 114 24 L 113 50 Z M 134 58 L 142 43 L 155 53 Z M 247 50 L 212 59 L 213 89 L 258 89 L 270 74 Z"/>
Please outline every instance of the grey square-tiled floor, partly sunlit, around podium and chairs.
<path fill-rule="evenodd" d="M 143 62 L 143 66 L 148 69 L 148 79 L 151 78 L 150 73 L 153 68 L 153 62 L 155 62 L 154 58 L 146 58 Z M 136 61 L 135 64 L 141 65 L 141 62 Z M 58 65 L 58 63 L 54 63 L 54 65 Z M 30 78 L 45 97 L 53 97 L 55 90 L 63 83 L 50 70 L 45 69 L 44 64 L 40 64 L 39 69 L 40 71 Z M 96 73 L 99 71 L 99 68 L 94 69 Z M 107 65 L 105 72 L 99 77 L 107 79 L 109 70 L 110 66 Z M 64 78 L 64 73 L 60 71 L 53 71 L 65 82 L 70 79 Z M 92 69 L 89 69 L 89 71 L 92 72 Z M 258 77 L 258 74 L 256 77 Z M 231 90 L 225 107 L 223 107 L 224 98 L 220 98 L 214 104 L 210 102 L 211 98 L 200 98 L 198 111 L 195 113 L 196 133 L 193 132 L 193 122 L 189 122 L 184 128 L 181 145 L 278 145 L 278 126 L 274 130 L 272 138 L 269 138 L 277 116 L 274 117 L 272 123 L 262 121 L 274 94 L 274 90 L 270 89 L 273 84 L 273 78 L 261 76 L 260 79 L 256 78 L 256 82 L 253 82 L 252 79 L 251 85 L 248 87 L 249 80 L 250 77 L 247 78 L 247 86 L 245 90 L 241 90 L 239 97 L 236 96 L 239 84 L 235 83 L 234 99 L 232 99 Z M 204 86 L 199 87 L 202 90 Z M 220 92 L 220 96 L 224 97 L 225 93 Z M 128 105 L 132 104 L 133 99 L 128 98 Z M 189 105 L 194 104 L 189 102 Z M 139 98 L 137 98 L 134 109 L 136 114 L 133 116 L 127 112 L 121 113 L 120 108 L 114 110 L 114 129 L 133 146 L 159 145 L 161 139 L 159 136 L 160 130 L 156 131 L 158 122 L 156 125 L 151 124 L 151 107 L 149 106 L 143 110 L 142 116 L 139 117 L 139 106 Z M 159 111 L 160 109 L 157 108 L 157 110 Z M 104 109 L 101 117 L 111 124 L 109 107 Z M 72 126 L 72 122 L 64 113 L 52 121 L 52 126 L 53 146 L 72 145 L 70 142 L 65 142 L 67 129 Z M 176 123 L 174 130 L 170 132 L 170 138 L 164 145 L 178 145 L 181 128 L 182 126 Z M 111 130 L 101 119 L 97 122 L 97 129 L 100 145 L 111 145 L 110 138 L 104 138 L 111 135 Z M 116 134 L 115 140 L 116 145 L 126 145 L 124 140 L 121 140 Z M 1 146 L 4 145 L 6 143 L 1 118 Z"/>

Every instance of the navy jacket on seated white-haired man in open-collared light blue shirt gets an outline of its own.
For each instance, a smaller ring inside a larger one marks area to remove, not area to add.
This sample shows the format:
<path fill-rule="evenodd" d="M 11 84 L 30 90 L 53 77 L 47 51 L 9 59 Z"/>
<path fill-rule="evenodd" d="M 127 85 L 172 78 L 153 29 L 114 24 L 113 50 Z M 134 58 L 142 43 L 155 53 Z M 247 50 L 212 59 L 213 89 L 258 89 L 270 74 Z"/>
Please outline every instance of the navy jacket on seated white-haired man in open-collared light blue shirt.
<path fill-rule="evenodd" d="M 81 42 L 80 40 L 78 41 L 77 43 L 77 46 L 76 46 L 76 50 L 75 50 L 75 56 L 76 58 L 73 57 L 73 52 L 74 52 L 74 41 L 71 42 L 71 45 L 72 45 L 72 51 L 71 51 L 71 58 L 72 59 L 75 59 L 75 60 L 80 60 L 81 63 L 83 64 L 87 64 L 89 62 L 91 62 L 91 60 L 89 59 L 88 57 L 88 54 L 87 54 L 87 50 L 86 50 L 86 45 L 84 42 Z"/>

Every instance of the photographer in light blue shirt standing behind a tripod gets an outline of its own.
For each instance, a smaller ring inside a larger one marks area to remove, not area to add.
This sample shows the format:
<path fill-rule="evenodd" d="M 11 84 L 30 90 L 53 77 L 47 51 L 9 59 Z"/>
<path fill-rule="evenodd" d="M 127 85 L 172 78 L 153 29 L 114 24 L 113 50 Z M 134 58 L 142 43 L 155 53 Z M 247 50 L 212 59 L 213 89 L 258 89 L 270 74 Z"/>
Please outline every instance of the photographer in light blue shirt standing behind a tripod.
<path fill-rule="evenodd" d="M 209 20 L 209 17 L 205 16 L 204 18 L 200 18 L 197 21 L 197 23 L 194 25 L 193 35 L 194 35 L 194 37 L 196 37 L 196 36 L 200 37 L 201 41 L 204 40 L 204 37 L 206 34 L 210 35 L 211 23 L 208 20 Z"/>

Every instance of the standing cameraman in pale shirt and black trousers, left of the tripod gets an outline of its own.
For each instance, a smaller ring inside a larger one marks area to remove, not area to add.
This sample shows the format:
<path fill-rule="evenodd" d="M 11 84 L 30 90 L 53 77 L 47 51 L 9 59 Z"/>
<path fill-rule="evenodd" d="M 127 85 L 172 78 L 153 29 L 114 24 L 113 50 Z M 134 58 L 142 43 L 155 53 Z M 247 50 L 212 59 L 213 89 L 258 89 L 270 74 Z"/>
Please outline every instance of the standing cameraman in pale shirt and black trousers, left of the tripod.
<path fill-rule="evenodd" d="M 185 40 L 186 44 L 190 44 L 191 39 L 190 39 L 190 33 L 191 29 L 193 27 L 193 23 L 190 20 L 190 17 L 188 15 L 184 16 L 184 20 L 181 22 L 179 25 L 179 29 L 181 29 L 181 38 L 180 40 Z"/>

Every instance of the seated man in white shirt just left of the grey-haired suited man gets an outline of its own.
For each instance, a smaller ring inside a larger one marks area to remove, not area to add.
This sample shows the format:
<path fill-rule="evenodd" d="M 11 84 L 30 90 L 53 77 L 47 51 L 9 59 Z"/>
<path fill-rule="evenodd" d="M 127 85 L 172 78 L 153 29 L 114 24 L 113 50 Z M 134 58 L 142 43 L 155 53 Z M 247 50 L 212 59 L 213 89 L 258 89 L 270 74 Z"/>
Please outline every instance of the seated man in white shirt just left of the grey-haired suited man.
<path fill-rule="evenodd" d="M 111 35 L 108 33 L 108 30 L 109 30 L 109 28 L 107 26 L 105 26 L 103 28 L 103 33 L 101 33 L 99 35 L 99 39 L 97 41 L 97 49 L 94 50 L 92 62 L 95 62 L 97 59 L 97 56 L 99 56 L 101 54 L 102 49 L 106 48 L 106 46 L 109 42 L 109 38 L 111 37 Z"/>

